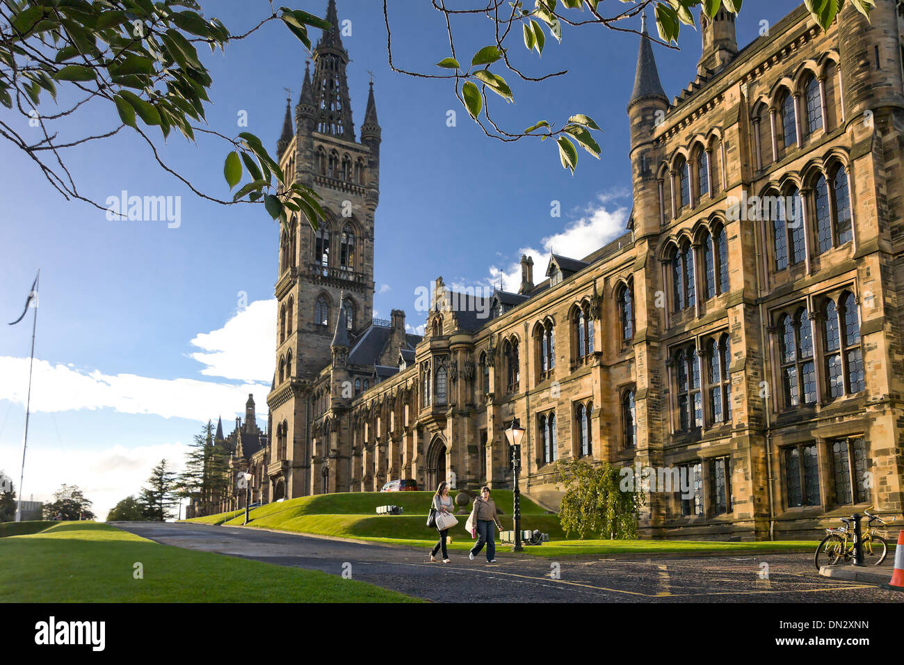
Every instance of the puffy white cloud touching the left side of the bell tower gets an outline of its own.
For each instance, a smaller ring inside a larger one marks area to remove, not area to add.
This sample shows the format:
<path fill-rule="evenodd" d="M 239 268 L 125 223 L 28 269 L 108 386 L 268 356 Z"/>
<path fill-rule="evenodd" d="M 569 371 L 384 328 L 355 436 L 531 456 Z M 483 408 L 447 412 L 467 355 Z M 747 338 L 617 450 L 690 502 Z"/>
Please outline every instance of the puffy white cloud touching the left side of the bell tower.
<path fill-rule="evenodd" d="M 219 330 L 194 337 L 193 346 L 203 351 L 191 357 L 206 365 L 202 375 L 270 382 L 276 366 L 276 339 L 277 300 L 255 300 Z"/>

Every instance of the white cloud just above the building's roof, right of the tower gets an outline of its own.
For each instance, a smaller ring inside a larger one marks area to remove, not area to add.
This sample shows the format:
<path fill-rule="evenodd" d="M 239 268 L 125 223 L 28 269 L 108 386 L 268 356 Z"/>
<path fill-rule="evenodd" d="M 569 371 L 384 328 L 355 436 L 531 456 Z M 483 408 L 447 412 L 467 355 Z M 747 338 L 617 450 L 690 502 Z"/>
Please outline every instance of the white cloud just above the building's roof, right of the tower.
<path fill-rule="evenodd" d="M 619 192 L 599 195 L 600 203 L 590 205 L 584 216 L 570 223 L 560 233 L 543 238 L 541 250 L 523 247 L 518 251 L 519 261 L 502 268 L 491 266 L 490 276 L 486 281 L 496 286 L 502 280 L 504 290 L 517 290 L 521 286 L 522 254 L 532 257 L 533 282 L 537 284 L 546 279 L 546 269 L 553 253 L 571 259 L 583 259 L 591 252 L 595 252 L 607 242 L 625 233 L 628 209 L 622 206 L 609 210 L 606 207 L 607 202 L 622 196 Z"/>

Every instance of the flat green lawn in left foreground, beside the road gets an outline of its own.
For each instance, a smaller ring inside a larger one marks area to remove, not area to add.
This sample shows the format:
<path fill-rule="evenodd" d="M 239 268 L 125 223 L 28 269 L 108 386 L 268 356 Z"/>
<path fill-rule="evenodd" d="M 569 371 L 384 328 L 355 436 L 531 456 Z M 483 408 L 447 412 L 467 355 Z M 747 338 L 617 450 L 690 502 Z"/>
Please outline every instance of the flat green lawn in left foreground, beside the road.
<path fill-rule="evenodd" d="M 134 578 L 134 565 L 144 578 Z M 419 602 L 338 575 L 159 545 L 95 522 L 0 539 L 0 603 Z"/>

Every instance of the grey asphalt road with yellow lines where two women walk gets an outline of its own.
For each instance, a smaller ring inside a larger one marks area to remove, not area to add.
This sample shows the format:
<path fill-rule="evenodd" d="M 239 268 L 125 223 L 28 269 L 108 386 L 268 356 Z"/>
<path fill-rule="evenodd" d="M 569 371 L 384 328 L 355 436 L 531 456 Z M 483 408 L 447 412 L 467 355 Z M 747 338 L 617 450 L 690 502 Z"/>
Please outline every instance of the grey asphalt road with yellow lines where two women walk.
<path fill-rule="evenodd" d="M 436 602 L 900 603 L 874 584 L 817 575 L 811 555 L 706 556 L 594 561 L 483 554 L 431 564 L 426 551 L 362 545 L 248 527 L 114 523 L 158 543 L 340 575 Z M 766 564 L 766 566 L 764 566 Z M 558 575 L 556 575 L 558 574 Z"/>

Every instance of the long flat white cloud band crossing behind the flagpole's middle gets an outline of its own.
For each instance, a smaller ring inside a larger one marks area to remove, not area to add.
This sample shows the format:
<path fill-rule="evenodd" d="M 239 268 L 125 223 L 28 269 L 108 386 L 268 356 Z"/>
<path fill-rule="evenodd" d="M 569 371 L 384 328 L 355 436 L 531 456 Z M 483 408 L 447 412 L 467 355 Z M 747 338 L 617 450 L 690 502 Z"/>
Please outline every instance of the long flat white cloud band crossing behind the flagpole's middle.
<path fill-rule="evenodd" d="M 0 356 L 0 399 L 25 404 L 28 358 Z M 266 413 L 269 385 L 223 384 L 195 379 L 155 379 L 133 374 L 105 375 L 35 358 L 32 411 L 115 409 L 120 413 L 154 413 L 207 422 L 211 413 L 245 404 L 254 394 L 258 412 Z"/>

